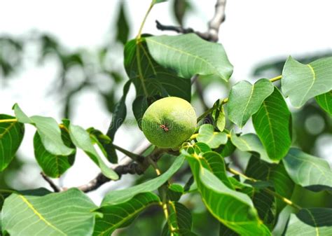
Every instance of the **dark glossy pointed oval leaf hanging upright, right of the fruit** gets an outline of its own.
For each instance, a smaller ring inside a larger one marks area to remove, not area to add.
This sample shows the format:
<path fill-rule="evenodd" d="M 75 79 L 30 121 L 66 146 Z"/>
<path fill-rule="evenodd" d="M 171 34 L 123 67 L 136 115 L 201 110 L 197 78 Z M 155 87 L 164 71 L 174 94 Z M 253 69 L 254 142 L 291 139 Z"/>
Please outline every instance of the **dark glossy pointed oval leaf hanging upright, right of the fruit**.
<path fill-rule="evenodd" d="M 282 160 L 291 147 L 291 113 L 276 87 L 252 116 L 252 122 L 269 158 Z"/>

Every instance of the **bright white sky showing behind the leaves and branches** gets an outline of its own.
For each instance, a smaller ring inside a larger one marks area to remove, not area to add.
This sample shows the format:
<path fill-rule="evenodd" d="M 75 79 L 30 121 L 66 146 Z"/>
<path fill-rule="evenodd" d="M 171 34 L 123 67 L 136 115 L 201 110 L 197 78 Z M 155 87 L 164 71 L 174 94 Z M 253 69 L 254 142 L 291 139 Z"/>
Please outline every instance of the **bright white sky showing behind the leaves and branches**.
<path fill-rule="evenodd" d="M 93 49 L 106 41 L 113 27 L 113 20 L 118 15 L 119 3 L 120 1 L 112 0 L 0 1 L 0 34 L 20 36 L 38 29 L 57 36 L 65 46 L 73 50 Z M 127 15 L 131 16 L 133 37 L 137 34 L 150 1 L 127 0 L 125 3 Z M 204 31 L 213 15 L 215 0 L 197 0 L 191 3 L 195 9 L 186 19 L 186 26 Z M 162 34 L 155 29 L 156 19 L 164 24 L 174 24 L 175 20 L 169 13 L 170 7 L 169 3 L 156 5 L 148 17 L 144 32 Z M 220 41 L 235 67 L 233 83 L 251 79 L 251 69 L 265 60 L 332 50 L 331 9 L 331 0 L 228 0 L 226 22 L 221 26 Z M 57 67 L 53 62 L 43 67 L 27 63 L 7 88 L 1 87 L 3 85 L 0 83 L 1 113 L 11 114 L 11 106 L 18 102 L 28 115 L 53 116 L 60 121 L 59 101 L 46 94 L 56 71 Z M 226 96 L 224 90 L 218 87 L 213 88 L 209 94 L 209 104 L 216 98 Z M 84 92 L 76 97 L 73 120 L 83 127 L 94 126 L 106 131 L 110 117 L 95 93 Z M 27 137 L 20 151 L 34 162 L 32 130 L 27 130 Z M 141 138 L 142 135 L 137 130 L 129 133 L 122 129 L 117 134 L 117 143 L 132 148 Z M 331 141 L 331 137 L 327 137 L 327 140 Z M 327 157 L 332 150 L 329 148 L 324 152 L 322 155 Z M 35 174 L 29 174 L 29 178 L 26 178 L 27 183 L 39 178 L 39 170 L 35 169 L 34 172 Z M 85 183 L 97 172 L 97 167 L 88 158 L 78 155 L 76 165 L 69 170 L 68 178 L 64 179 L 64 185 Z M 24 176 L 27 173 L 22 173 L 22 177 Z"/>

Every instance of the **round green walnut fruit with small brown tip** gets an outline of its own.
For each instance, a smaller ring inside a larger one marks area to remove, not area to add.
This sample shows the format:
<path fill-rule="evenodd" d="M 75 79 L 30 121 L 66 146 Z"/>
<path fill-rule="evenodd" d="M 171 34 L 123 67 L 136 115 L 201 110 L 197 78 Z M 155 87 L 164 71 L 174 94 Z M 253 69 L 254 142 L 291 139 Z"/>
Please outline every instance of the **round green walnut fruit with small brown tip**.
<path fill-rule="evenodd" d="M 177 148 L 191 137 L 197 125 L 193 106 L 179 97 L 153 102 L 144 113 L 141 128 L 151 144 Z"/>

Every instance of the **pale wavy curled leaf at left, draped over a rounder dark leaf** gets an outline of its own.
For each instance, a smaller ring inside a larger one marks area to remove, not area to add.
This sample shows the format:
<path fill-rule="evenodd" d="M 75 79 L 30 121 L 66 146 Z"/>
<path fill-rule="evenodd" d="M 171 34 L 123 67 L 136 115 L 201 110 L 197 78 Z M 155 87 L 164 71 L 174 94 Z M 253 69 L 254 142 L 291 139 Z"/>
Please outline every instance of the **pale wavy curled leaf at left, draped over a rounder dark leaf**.
<path fill-rule="evenodd" d="M 49 153 L 53 155 L 71 155 L 74 153 L 75 150 L 73 148 L 64 145 L 60 127 L 55 119 L 43 116 L 28 117 L 18 104 L 15 104 L 13 109 L 18 122 L 36 127 L 38 134 L 41 136 L 41 142 Z"/>

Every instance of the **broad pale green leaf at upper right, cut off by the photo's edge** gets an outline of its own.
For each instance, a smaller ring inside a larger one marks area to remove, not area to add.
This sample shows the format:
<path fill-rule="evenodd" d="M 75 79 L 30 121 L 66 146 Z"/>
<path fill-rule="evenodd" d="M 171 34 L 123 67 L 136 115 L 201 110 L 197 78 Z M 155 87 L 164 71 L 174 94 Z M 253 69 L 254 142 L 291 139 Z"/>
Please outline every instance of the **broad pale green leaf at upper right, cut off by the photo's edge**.
<path fill-rule="evenodd" d="M 307 100 L 332 89 L 332 57 L 302 64 L 289 57 L 282 71 L 282 92 L 291 104 L 303 106 Z"/>

